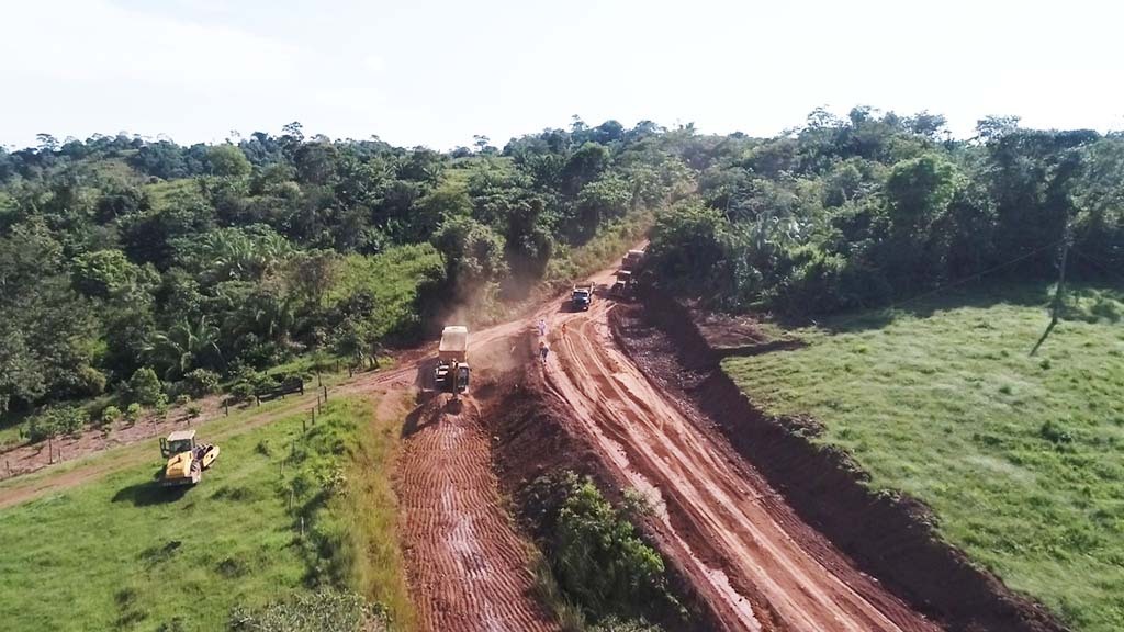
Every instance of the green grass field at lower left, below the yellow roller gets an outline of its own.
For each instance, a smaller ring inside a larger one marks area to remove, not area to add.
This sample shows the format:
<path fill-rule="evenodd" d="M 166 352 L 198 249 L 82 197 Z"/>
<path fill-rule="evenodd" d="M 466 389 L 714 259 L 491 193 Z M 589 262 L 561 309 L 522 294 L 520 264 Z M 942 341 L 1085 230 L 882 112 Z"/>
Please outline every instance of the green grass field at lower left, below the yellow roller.
<path fill-rule="evenodd" d="M 0 511 L 3 629 L 220 630 L 235 605 L 332 580 L 408 620 L 393 497 L 370 491 L 389 490 L 397 424 L 371 424 L 372 404 L 357 398 L 334 400 L 307 434 L 302 418 L 223 441 L 215 468 L 184 493 L 154 484 L 153 441 L 149 463 Z M 357 520 L 353 496 L 375 517 Z M 383 568 L 359 570 L 366 563 Z"/>

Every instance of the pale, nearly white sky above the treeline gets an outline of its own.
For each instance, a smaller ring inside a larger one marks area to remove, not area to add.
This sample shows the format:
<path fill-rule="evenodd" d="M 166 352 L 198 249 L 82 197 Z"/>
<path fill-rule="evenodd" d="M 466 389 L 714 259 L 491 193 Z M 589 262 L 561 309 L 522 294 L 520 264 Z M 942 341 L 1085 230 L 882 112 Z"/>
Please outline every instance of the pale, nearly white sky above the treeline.
<path fill-rule="evenodd" d="M 1124 128 L 1111 0 L 0 0 L 0 144 L 230 130 L 435 148 L 652 119 L 772 135 L 817 106 Z"/>

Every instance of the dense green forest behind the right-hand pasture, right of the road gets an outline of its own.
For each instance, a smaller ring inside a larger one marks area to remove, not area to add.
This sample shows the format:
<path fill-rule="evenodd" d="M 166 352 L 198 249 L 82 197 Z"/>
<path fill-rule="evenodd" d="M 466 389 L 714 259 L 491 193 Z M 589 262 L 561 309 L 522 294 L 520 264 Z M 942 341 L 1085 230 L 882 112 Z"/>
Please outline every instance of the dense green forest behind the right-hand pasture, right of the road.
<path fill-rule="evenodd" d="M 1124 135 L 941 116 L 814 111 L 776 138 L 696 136 L 699 199 L 652 233 L 655 280 L 711 306 L 798 318 L 879 306 L 981 273 L 1124 274 Z"/>

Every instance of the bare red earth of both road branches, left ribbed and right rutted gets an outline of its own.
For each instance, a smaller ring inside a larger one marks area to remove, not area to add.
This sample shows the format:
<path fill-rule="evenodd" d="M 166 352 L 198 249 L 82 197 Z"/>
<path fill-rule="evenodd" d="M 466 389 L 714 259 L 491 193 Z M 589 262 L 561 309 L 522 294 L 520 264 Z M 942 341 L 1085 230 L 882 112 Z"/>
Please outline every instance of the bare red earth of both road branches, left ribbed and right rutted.
<path fill-rule="evenodd" d="M 604 290 L 611 276 L 595 281 Z M 510 358 L 519 356 L 519 341 L 536 319 L 545 320 L 549 360 L 525 370 L 544 371 L 541 396 L 568 413 L 568 431 L 596 448 L 614 480 L 649 496 L 656 544 L 722 628 L 937 630 L 856 570 L 728 444 L 644 376 L 613 340 L 614 305 L 599 297 L 588 312 L 570 313 L 552 303 L 529 320 L 474 332 L 473 379 L 496 370 L 507 346 Z M 405 372 L 398 379 L 409 381 Z M 441 396 L 407 422 L 399 472 L 404 540 L 429 630 L 550 626 L 529 594 L 526 550 L 500 508 L 489 436 L 475 418 L 491 396 L 477 390 L 459 413 Z"/>

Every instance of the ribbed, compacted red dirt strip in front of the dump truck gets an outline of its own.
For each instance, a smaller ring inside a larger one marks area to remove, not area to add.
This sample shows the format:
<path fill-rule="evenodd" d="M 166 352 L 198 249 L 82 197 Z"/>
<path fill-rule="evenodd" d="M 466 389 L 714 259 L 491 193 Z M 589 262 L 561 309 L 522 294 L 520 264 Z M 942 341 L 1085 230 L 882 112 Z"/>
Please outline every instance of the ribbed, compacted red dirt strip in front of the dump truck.
<path fill-rule="evenodd" d="M 488 436 L 469 398 L 436 396 L 407 419 L 395 488 L 423 630 L 550 631 L 528 550 L 500 506 Z"/>

